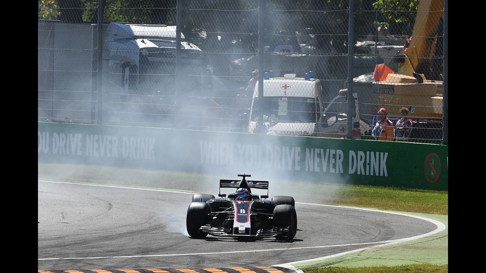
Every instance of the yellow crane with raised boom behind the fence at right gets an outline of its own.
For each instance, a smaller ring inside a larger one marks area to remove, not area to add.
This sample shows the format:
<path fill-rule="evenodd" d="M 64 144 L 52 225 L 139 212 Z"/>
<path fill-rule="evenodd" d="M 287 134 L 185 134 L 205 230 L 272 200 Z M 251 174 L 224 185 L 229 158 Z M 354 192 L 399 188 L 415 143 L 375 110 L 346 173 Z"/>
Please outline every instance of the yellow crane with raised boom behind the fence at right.
<path fill-rule="evenodd" d="M 386 107 L 392 117 L 409 108 L 423 139 L 442 138 L 442 16 L 443 0 L 421 0 L 410 45 L 394 56 L 396 73 L 376 82 L 376 107 Z"/>

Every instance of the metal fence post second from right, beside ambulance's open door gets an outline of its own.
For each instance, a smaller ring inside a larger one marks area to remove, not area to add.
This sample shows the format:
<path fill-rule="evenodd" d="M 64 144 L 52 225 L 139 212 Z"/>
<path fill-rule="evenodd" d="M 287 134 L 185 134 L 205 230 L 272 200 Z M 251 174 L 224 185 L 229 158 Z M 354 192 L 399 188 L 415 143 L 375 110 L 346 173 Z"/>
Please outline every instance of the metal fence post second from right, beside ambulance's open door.
<path fill-rule="evenodd" d="M 353 57 L 354 57 L 354 0 L 349 0 L 349 15 L 348 15 L 348 124 L 347 124 L 347 138 L 351 139 L 353 136 Z"/>

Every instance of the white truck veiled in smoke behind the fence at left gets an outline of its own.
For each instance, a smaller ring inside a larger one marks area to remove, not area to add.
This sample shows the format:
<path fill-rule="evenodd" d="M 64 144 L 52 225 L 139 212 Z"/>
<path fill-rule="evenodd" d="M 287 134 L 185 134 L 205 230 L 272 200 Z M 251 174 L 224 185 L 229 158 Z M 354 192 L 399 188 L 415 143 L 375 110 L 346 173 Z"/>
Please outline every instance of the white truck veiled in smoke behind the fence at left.
<path fill-rule="evenodd" d="M 202 51 L 181 33 L 181 70 L 199 84 L 206 70 Z M 109 81 L 129 93 L 175 92 L 176 27 L 110 23 L 103 55 Z"/>

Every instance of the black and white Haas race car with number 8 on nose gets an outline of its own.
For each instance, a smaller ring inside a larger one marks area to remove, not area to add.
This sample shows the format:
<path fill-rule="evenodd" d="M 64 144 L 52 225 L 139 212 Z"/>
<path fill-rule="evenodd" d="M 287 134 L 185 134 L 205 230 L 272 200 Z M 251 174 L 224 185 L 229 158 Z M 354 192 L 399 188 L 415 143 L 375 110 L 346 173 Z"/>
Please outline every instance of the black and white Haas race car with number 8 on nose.
<path fill-rule="evenodd" d="M 291 196 L 268 198 L 268 181 L 220 179 L 219 194 L 194 194 L 187 209 L 187 233 L 193 238 L 213 236 L 275 237 L 292 240 L 297 232 L 295 200 Z M 251 188 L 267 190 L 267 195 L 252 194 Z M 221 194 L 221 188 L 236 188 L 236 193 Z"/>

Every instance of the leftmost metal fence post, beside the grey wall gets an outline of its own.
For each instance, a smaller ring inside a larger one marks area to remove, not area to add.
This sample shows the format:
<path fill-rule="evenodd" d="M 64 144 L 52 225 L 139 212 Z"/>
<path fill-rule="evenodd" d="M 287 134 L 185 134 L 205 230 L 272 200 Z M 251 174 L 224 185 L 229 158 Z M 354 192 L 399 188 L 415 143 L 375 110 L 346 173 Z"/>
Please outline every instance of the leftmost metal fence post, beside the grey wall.
<path fill-rule="evenodd" d="M 97 124 L 103 124 L 103 11 L 105 1 L 98 0 L 98 74 L 97 74 L 97 107 L 98 112 Z"/>

